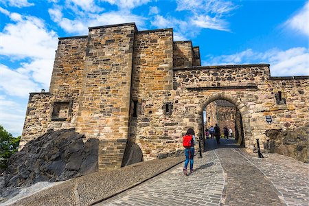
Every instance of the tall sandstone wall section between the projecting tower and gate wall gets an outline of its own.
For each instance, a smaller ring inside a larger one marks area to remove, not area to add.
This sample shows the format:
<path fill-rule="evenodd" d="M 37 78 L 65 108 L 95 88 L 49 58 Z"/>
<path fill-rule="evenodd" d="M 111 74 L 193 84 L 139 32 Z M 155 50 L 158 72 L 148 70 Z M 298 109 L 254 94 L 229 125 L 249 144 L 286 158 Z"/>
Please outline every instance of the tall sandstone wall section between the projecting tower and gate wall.
<path fill-rule="evenodd" d="M 163 108 L 172 102 L 172 30 L 138 32 L 134 52 L 132 100 L 138 106 L 137 117 L 131 109 L 130 141 L 141 148 L 147 160 L 175 148 L 166 144 L 174 144 L 174 130 L 170 130 L 174 122 Z"/>

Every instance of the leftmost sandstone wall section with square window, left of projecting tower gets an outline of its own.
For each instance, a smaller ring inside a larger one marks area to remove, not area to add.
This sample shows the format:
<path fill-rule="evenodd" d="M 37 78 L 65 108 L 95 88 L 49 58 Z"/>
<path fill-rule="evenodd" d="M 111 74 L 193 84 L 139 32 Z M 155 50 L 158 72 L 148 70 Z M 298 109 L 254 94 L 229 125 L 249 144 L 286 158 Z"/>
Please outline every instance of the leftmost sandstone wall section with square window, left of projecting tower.
<path fill-rule="evenodd" d="M 78 115 L 87 36 L 59 38 L 49 93 L 31 93 L 20 148 L 47 130 L 74 128 Z M 52 118 L 55 102 L 69 102 L 69 115 Z"/>

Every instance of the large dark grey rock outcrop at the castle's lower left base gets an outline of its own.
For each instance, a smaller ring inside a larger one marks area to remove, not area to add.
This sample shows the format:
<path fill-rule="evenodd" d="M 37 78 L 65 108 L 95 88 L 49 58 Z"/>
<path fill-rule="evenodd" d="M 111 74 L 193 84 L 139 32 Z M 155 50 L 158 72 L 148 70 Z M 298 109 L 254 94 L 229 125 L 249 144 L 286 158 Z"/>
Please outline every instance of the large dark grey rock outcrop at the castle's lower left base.
<path fill-rule="evenodd" d="M 27 187 L 39 181 L 64 181 L 98 171 L 98 139 L 73 129 L 58 130 L 30 141 L 9 159 L 5 187 Z"/>

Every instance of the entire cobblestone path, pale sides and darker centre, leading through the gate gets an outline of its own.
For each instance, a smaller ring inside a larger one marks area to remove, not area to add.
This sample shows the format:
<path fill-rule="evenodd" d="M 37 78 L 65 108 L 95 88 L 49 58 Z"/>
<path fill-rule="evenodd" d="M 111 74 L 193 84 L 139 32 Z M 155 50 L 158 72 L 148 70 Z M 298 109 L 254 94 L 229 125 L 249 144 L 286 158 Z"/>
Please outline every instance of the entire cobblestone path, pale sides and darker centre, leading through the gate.
<path fill-rule="evenodd" d="M 258 159 L 233 139 L 207 141 L 196 172 L 183 163 L 98 205 L 309 205 L 306 163 L 282 155 Z"/>

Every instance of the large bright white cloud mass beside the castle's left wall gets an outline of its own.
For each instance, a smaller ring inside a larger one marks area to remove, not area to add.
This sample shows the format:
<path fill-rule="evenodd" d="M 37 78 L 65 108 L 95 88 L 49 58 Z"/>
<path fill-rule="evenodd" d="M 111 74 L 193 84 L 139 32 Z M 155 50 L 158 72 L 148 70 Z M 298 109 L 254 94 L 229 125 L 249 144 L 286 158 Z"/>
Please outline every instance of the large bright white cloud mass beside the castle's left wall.
<path fill-rule="evenodd" d="M 49 88 L 58 39 L 44 22 L 34 16 L 7 13 L 12 23 L 0 32 L 2 58 L 19 60 L 18 69 L 1 65 L 0 89 L 11 96 L 27 97 L 29 92 Z"/>

